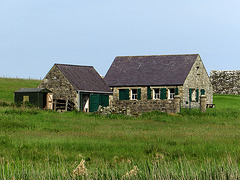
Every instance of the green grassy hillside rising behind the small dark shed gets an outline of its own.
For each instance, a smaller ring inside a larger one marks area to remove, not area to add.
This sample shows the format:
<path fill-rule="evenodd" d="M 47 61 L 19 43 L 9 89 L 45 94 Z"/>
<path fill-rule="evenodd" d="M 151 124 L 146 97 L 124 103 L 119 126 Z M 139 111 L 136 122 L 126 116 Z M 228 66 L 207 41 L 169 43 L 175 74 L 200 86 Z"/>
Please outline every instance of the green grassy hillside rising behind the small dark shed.
<path fill-rule="evenodd" d="M 20 88 L 35 88 L 40 80 L 0 78 L 0 101 L 13 102 L 14 91 Z"/>

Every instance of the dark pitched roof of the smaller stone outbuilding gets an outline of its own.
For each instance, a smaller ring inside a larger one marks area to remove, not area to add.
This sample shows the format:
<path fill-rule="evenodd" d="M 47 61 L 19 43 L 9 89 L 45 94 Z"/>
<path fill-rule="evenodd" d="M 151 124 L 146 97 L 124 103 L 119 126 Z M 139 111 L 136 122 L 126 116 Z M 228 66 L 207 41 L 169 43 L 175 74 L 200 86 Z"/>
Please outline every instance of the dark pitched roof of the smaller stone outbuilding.
<path fill-rule="evenodd" d="M 92 66 L 55 64 L 75 90 L 112 92 Z"/>

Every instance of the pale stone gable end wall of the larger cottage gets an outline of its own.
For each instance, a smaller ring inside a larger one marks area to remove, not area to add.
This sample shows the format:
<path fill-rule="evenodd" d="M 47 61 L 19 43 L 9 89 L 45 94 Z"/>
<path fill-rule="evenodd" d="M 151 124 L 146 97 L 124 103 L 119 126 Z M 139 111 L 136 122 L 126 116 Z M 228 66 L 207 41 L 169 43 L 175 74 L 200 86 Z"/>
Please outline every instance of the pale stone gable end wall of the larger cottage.
<path fill-rule="evenodd" d="M 199 100 L 198 102 L 189 101 L 189 89 L 199 90 Z M 206 103 L 213 103 L 213 88 L 207 71 L 203 65 L 200 56 L 197 57 L 186 81 L 183 84 L 183 95 L 182 95 L 182 107 L 183 108 L 199 108 L 200 107 L 200 90 L 205 90 L 205 95 L 207 97 Z"/>

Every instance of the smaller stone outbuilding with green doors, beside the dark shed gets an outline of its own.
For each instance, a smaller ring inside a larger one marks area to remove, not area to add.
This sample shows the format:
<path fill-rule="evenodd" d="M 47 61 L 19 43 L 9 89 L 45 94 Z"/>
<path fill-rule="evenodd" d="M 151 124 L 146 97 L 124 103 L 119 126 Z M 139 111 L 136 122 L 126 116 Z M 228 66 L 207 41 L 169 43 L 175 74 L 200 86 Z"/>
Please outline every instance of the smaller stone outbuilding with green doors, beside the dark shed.
<path fill-rule="evenodd" d="M 111 89 L 92 66 L 54 64 L 38 88 L 52 91 L 53 99 L 71 101 L 79 111 L 94 112 L 109 105 Z"/>

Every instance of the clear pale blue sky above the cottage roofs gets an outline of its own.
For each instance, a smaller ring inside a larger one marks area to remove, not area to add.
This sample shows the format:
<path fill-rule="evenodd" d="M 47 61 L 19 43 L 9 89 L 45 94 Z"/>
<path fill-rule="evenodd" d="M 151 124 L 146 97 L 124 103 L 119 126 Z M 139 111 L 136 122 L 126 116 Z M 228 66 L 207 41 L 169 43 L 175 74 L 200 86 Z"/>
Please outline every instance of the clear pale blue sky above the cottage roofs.
<path fill-rule="evenodd" d="M 240 69 L 239 0 L 0 0 L 0 77 L 44 78 L 54 63 L 105 75 L 115 56 L 200 54 Z"/>

